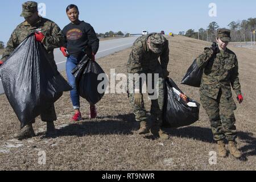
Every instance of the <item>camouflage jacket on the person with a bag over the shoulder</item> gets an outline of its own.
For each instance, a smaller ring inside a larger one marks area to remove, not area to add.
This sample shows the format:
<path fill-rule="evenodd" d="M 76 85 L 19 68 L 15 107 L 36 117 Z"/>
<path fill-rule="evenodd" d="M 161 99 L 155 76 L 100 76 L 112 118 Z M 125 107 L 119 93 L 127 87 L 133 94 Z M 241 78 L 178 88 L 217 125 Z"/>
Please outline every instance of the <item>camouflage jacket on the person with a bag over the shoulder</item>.
<path fill-rule="evenodd" d="M 236 94 L 241 94 L 241 85 L 238 78 L 238 61 L 234 52 L 228 48 L 222 56 L 214 54 L 210 48 L 205 48 L 203 54 L 197 57 L 197 64 L 204 68 L 201 80 L 200 93 L 217 99 L 220 89 L 226 97 L 232 97 L 232 88 Z"/>

